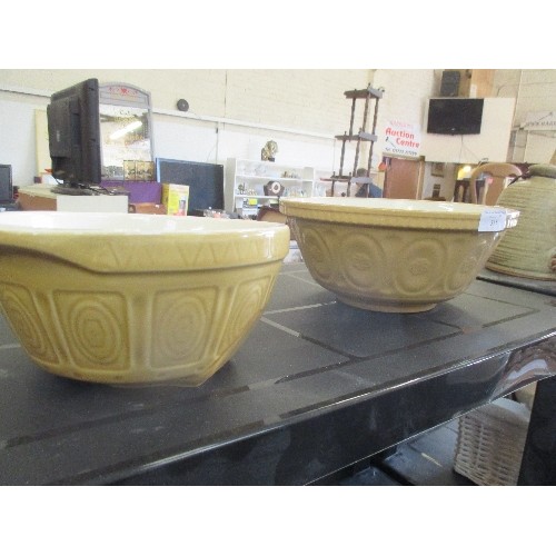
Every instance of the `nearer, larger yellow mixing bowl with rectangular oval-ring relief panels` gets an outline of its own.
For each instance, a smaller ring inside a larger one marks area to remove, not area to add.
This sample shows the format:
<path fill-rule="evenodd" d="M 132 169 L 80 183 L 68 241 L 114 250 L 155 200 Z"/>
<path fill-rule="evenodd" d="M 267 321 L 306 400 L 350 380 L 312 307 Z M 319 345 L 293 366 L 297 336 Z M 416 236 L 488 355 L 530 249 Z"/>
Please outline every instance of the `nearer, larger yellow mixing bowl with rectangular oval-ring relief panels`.
<path fill-rule="evenodd" d="M 50 373 L 198 386 L 249 334 L 288 251 L 282 224 L 4 212 L 0 305 Z"/>

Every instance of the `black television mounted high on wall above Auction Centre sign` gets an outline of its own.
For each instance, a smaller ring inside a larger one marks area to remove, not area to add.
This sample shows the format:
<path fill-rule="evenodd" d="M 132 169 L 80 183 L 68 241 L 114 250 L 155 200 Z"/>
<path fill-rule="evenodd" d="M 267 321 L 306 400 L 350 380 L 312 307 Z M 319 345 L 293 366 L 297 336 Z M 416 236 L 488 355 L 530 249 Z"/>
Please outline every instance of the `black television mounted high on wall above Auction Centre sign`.
<path fill-rule="evenodd" d="M 485 99 L 437 98 L 428 101 L 427 133 L 480 133 Z"/>

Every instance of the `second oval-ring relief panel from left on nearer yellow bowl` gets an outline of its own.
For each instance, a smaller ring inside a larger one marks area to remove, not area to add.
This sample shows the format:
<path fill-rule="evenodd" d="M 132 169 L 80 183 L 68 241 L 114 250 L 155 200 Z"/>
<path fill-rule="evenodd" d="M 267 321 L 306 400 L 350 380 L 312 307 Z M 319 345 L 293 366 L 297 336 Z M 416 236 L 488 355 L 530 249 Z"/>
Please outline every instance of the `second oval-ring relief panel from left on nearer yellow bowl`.
<path fill-rule="evenodd" d="M 58 319 L 67 349 L 78 367 L 122 370 L 129 351 L 128 318 L 122 296 L 110 292 L 56 291 Z"/>

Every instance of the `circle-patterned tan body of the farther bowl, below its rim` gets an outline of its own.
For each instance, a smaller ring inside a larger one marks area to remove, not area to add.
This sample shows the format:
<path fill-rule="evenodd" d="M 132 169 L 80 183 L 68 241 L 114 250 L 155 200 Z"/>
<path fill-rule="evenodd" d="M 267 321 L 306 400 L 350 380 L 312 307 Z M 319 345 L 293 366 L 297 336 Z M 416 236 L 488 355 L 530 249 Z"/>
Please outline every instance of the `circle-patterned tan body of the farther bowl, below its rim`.
<path fill-rule="evenodd" d="M 400 234 L 388 227 L 331 226 L 301 218 L 289 222 L 312 278 L 360 307 L 454 297 L 484 266 L 493 240 L 478 232 Z"/>

